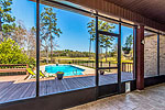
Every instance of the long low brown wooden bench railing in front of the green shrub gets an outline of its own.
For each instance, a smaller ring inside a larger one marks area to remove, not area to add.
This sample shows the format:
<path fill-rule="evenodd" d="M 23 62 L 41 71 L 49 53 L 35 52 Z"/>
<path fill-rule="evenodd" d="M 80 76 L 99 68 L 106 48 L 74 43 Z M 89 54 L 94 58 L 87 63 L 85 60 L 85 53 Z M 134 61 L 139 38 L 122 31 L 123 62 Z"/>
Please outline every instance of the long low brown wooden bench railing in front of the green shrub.
<path fill-rule="evenodd" d="M 28 64 L 0 64 L 0 73 L 24 72 L 28 75 L 26 68 L 29 68 Z"/>

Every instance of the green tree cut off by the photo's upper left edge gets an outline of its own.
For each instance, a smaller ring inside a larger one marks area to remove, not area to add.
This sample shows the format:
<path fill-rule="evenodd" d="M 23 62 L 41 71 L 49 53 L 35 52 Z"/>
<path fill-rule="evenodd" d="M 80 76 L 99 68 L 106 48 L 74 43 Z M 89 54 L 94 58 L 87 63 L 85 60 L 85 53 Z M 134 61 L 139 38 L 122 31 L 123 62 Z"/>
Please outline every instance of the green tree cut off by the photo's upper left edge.
<path fill-rule="evenodd" d="M 11 12 L 12 0 L 1 0 L 0 1 L 0 41 L 3 40 L 3 36 L 8 36 L 10 32 L 15 28 L 13 23 L 15 18 L 10 14 Z M 3 36 L 2 36 L 3 35 Z"/>

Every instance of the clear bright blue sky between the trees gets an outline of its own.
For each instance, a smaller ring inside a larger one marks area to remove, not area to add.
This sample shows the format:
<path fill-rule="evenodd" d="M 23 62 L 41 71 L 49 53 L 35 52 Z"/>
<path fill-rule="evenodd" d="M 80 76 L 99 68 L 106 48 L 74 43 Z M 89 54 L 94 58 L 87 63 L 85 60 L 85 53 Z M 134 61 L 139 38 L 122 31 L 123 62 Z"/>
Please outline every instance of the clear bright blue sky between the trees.
<path fill-rule="evenodd" d="M 41 4 L 41 12 L 44 10 Z M 35 3 L 29 0 L 13 0 L 12 14 L 18 20 L 23 21 L 26 29 L 35 26 L 36 12 Z M 89 33 L 87 23 L 92 19 L 78 13 L 54 9 L 57 14 L 57 26 L 61 28 L 63 34 L 59 38 L 56 38 L 56 43 L 59 45 L 57 50 L 74 50 L 74 51 L 88 51 L 89 50 Z M 118 26 L 114 33 L 118 32 Z M 122 45 L 125 41 L 125 36 L 133 34 L 131 28 L 122 26 Z M 92 43 L 92 51 L 95 43 Z"/>

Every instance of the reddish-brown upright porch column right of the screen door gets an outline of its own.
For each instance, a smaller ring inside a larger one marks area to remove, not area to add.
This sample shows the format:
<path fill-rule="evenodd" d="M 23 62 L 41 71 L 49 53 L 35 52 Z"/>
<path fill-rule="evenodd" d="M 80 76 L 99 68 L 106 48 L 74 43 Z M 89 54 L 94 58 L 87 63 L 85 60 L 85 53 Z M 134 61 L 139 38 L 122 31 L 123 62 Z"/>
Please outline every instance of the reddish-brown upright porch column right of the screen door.
<path fill-rule="evenodd" d="M 144 26 L 140 25 L 136 31 L 136 89 L 144 89 Z"/>

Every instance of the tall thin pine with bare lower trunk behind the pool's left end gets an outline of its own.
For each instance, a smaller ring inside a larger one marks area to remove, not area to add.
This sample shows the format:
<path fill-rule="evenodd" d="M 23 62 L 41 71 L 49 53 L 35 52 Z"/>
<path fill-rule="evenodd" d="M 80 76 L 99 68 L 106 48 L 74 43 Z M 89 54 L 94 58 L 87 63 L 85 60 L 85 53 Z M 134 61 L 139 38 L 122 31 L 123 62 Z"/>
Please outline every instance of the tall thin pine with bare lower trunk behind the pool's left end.
<path fill-rule="evenodd" d="M 59 37 L 62 31 L 57 28 L 56 13 L 53 12 L 53 8 L 44 8 L 44 12 L 41 13 L 41 30 L 44 32 L 41 34 L 42 40 L 51 42 L 51 62 L 53 62 L 53 46 L 55 46 L 55 37 Z M 47 51 L 47 45 L 46 45 Z"/>

